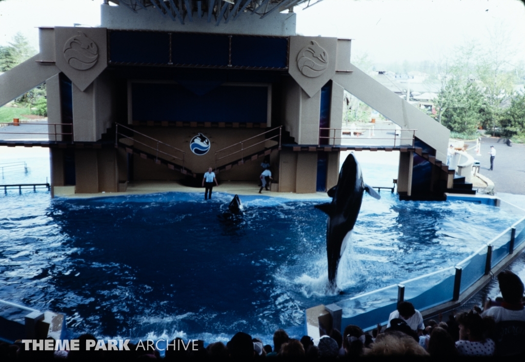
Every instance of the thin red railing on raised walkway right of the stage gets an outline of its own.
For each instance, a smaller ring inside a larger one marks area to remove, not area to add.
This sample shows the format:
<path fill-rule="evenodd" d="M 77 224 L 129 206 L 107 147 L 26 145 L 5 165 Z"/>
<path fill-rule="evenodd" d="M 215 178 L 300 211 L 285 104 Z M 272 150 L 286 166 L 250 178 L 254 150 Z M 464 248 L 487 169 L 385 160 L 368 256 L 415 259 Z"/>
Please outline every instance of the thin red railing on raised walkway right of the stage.
<path fill-rule="evenodd" d="M 357 140 L 374 141 L 374 145 L 382 146 L 411 146 L 414 147 L 415 129 L 383 129 L 375 128 L 374 125 L 366 126 L 360 129 L 350 128 L 319 128 L 319 146 L 335 146 L 341 144 L 341 140 L 353 143 Z M 348 135 L 345 137 L 344 135 Z M 338 142 L 337 142 L 338 141 Z M 383 144 L 377 143 L 383 141 Z M 368 144 L 369 141 L 361 141 L 359 144 Z"/>

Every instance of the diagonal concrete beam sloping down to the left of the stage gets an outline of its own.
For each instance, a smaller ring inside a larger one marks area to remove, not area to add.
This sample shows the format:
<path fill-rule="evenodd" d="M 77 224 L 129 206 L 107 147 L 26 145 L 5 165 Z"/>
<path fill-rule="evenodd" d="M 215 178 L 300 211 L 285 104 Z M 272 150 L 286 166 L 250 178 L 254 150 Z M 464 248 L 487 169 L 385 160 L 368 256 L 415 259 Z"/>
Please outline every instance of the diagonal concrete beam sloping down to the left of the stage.
<path fill-rule="evenodd" d="M 37 60 L 41 58 L 40 54 L 37 54 L 0 74 L 0 107 L 60 72 L 54 64 L 40 65 Z"/>

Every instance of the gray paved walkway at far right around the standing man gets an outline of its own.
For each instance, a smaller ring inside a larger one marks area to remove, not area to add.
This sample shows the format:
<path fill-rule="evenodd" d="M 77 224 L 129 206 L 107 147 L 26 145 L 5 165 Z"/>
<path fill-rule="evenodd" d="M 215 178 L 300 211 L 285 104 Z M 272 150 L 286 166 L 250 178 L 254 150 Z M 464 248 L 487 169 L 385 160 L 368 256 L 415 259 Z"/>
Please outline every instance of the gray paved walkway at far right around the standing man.
<path fill-rule="evenodd" d="M 501 142 L 498 142 L 501 141 Z M 471 150 L 468 154 L 481 162 L 479 173 L 492 180 L 498 193 L 525 195 L 525 144 L 512 144 L 507 146 L 501 139 L 482 138 L 481 155 L 476 156 L 476 142 L 467 142 Z M 490 145 L 496 148 L 494 171 L 490 168 Z"/>

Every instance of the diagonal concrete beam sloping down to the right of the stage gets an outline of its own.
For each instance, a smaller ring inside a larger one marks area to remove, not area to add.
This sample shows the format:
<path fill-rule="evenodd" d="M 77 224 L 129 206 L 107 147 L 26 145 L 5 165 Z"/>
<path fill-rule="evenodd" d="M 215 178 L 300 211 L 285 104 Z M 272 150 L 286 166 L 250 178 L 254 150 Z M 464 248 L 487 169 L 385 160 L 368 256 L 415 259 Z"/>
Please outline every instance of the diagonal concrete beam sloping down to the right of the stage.
<path fill-rule="evenodd" d="M 417 130 L 414 135 L 436 150 L 437 159 L 447 159 L 450 131 L 445 126 L 400 98 L 358 67 L 351 64 L 349 70 L 352 71 L 350 74 L 336 74 L 332 81 L 404 129 Z"/>

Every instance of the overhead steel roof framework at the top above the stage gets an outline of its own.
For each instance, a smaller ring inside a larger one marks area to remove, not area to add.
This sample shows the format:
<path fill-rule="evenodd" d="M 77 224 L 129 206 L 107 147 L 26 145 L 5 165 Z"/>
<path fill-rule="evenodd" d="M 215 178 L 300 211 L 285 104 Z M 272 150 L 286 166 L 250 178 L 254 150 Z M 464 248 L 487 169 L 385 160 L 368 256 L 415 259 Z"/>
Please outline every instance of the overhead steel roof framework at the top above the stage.
<path fill-rule="evenodd" d="M 228 23 L 243 15 L 258 15 L 261 19 L 274 12 L 291 10 L 294 6 L 304 8 L 322 0 L 104 0 L 129 8 L 139 13 L 148 7 L 154 7 L 162 16 L 170 17 L 174 22 L 193 22 L 196 18 L 206 18 L 219 25 L 224 20 Z"/>

